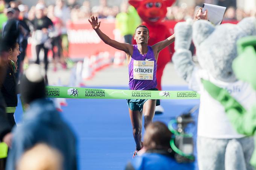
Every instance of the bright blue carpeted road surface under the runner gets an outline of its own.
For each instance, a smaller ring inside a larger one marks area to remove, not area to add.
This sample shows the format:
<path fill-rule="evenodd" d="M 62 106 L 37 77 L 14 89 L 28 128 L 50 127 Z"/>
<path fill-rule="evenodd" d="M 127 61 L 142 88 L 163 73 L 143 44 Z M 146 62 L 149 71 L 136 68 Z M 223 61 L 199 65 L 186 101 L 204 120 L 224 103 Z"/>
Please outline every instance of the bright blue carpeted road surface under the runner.
<path fill-rule="evenodd" d="M 127 89 L 126 87 L 90 87 L 99 89 Z M 187 86 L 168 86 L 163 90 L 188 90 Z M 61 113 L 78 138 L 79 170 L 122 170 L 132 159 L 135 142 L 124 99 L 67 99 L 67 107 Z M 162 100 L 165 109 L 154 120 L 168 123 L 174 117 L 199 104 L 198 99 Z M 193 116 L 197 122 L 197 113 Z M 22 119 L 20 101 L 15 120 Z M 189 131 L 196 134 L 196 124 Z M 144 133 L 144 129 L 143 129 Z M 196 136 L 196 135 L 195 135 Z M 195 162 L 197 169 L 197 163 Z M 178 167 L 176 168 L 178 169 Z"/>

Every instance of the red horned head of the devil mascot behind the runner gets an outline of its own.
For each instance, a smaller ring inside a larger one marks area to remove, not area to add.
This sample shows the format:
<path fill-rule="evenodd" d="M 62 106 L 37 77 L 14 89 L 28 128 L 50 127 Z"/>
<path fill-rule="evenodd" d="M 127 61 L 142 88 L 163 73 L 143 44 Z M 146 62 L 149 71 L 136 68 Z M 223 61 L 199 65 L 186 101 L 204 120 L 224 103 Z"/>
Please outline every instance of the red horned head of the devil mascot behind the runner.
<path fill-rule="evenodd" d="M 161 22 L 165 18 L 167 7 L 174 2 L 175 0 L 129 0 L 140 18 L 151 25 Z"/>

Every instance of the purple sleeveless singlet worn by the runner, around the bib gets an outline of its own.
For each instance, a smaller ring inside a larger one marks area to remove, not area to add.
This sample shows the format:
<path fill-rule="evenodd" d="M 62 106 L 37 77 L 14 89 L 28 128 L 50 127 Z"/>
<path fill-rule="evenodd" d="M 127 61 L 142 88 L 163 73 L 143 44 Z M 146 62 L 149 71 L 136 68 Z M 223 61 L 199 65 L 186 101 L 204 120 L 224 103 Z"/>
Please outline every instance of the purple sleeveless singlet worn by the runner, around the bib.
<path fill-rule="evenodd" d="M 153 80 L 137 80 L 134 79 L 133 74 L 133 63 L 134 60 L 136 61 L 154 61 L 154 72 L 153 72 Z M 151 48 L 151 46 L 148 46 L 148 53 L 146 54 L 140 54 L 140 51 L 138 50 L 137 45 L 133 45 L 133 56 L 131 56 L 131 62 L 128 65 L 128 71 L 129 71 L 129 88 L 130 90 L 149 90 L 154 89 L 157 86 L 157 78 L 156 78 L 156 72 L 157 72 L 157 62 L 154 57 L 154 52 Z"/>

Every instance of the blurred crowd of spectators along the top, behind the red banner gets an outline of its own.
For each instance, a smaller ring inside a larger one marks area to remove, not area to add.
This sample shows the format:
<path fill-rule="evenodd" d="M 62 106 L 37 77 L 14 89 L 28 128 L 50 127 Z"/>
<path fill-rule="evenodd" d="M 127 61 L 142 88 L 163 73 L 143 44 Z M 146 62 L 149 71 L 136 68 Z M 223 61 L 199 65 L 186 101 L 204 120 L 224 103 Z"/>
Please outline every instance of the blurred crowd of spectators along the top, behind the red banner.
<path fill-rule="evenodd" d="M 61 0 L 60 0 L 61 1 Z M 58 2 L 56 4 L 48 4 L 44 0 L 38 0 L 38 3 L 44 4 L 46 7 L 44 12 L 45 15 L 50 13 L 53 6 L 55 7 L 55 14 L 56 9 L 58 8 Z M 110 6 L 108 4 L 108 0 L 99 0 L 99 5 L 92 6 L 89 0 L 85 0 L 82 3 L 79 3 L 77 0 L 67 0 L 62 1 L 65 7 L 65 12 L 63 14 L 69 15 L 65 16 L 64 21 L 71 20 L 71 21 L 87 21 L 87 19 L 91 16 L 98 16 L 98 18 L 107 18 L 113 19 L 116 17 L 117 14 L 120 12 L 120 6 Z M 7 13 L 7 8 L 4 8 L 5 1 L 0 0 L 0 15 Z M 11 1 L 9 3 L 11 8 L 18 8 L 21 5 L 21 1 Z M 28 18 L 30 21 L 35 19 L 35 6 L 31 6 L 30 8 L 27 5 L 22 5 L 20 12 Z M 195 6 L 187 6 L 184 5 L 173 5 L 167 9 L 166 20 L 186 20 L 187 18 L 193 18 L 195 12 Z M 235 8 L 233 6 L 229 6 L 226 10 L 226 14 L 224 16 L 224 20 L 242 20 L 242 18 L 255 16 L 256 11 L 249 11 L 245 12 L 243 9 Z M 59 17 L 59 16 L 57 16 Z M 0 29 L 2 27 L 1 20 L 2 16 L 0 17 Z M 63 18 L 61 18 L 63 20 Z"/>

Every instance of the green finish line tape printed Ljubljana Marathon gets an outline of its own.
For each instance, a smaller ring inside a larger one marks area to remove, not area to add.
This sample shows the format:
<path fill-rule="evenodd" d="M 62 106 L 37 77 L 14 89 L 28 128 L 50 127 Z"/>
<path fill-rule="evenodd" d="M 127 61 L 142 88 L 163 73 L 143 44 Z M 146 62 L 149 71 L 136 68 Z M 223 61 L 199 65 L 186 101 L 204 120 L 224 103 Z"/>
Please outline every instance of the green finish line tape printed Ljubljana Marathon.
<path fill-rule="evenodd" d="M 72 99 L 199 99 L 193 91 L 115 90 L 46 86 L 48 98 Z"/>

